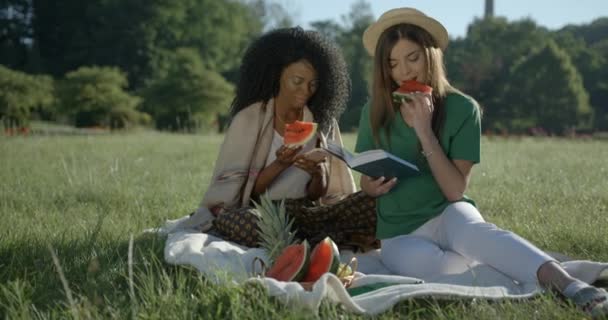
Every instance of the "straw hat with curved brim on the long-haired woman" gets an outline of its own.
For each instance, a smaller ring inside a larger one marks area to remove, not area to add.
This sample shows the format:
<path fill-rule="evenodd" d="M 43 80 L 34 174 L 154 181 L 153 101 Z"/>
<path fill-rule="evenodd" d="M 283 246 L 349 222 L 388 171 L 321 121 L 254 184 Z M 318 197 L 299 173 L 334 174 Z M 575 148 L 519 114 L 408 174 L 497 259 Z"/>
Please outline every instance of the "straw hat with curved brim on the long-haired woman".
<path fill-rule="evenodd" d="M 382 32 L 401 23 L 413 24 L 426 30 L 441 50 L 448 46 L 448 32 L 439 21 L 414 8 L 396 8 L 382 14 L 378 21 L 372 23 L 363 33 L 363 46 L 367 52 L 373 56 Z"/>

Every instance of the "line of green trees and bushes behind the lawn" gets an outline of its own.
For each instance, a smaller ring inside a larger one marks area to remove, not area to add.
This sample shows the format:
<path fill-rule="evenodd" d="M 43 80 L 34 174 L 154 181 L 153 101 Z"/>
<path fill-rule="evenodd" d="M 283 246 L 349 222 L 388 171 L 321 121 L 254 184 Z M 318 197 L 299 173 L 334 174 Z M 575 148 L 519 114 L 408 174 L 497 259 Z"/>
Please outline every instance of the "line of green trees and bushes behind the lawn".
<path fill-rule="evenodd" d="M 353 92 L 340 119 L 356 129 L 374 20 L 356 2 L 311 27 L 342 49 Z M 0 5 L 0 118 L 77 127 L 222 126 L 252 39 L 292 26 L 265 0 L 5 0 Z M 608 18 L 548 30 L 530 19 L 471 22 L 445 53 L 448 77 L 481 104 L 488 132 L 608 130 Z"/>

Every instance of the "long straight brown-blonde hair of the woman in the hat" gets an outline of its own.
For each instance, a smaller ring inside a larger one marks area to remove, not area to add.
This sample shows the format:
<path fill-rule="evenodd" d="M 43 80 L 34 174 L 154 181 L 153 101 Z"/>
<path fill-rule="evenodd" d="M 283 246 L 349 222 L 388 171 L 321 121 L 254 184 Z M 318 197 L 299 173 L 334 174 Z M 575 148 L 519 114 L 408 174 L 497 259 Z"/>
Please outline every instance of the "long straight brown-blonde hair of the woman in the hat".
<path fill-rule="evenodd" d="M 432 127 L 436 137 L 440 137 L 445 122 L 445 97 L 454 89 L 446 78 L 443 63 L 443 52 L 437 47 L 435 39 L 424 29 L 411 24 L 392 26 L 380 35 L 374 54 L 374 71 L 372 78 L 370 125 L 376 146 L 380 146 L 380 132 L 385 130 L 390 144 L 390 124 L 395 118 L 391 93 L 397 84 L 391 78 L 390 54 L 395 44 L 407 39 L 420 45 L 426 57 L 427 85 L 433 87 Z"/>

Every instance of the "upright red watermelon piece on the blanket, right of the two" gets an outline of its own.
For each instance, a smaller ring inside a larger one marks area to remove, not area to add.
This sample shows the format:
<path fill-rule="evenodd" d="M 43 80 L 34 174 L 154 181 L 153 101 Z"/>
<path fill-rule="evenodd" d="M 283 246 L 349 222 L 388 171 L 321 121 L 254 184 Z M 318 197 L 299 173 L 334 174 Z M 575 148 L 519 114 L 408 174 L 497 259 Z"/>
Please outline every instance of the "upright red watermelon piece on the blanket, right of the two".
<path fill-rule="evenodd" d="M 317 244 L 310 254 L 310 266 L 302 281 L 315 282 L 327 272 L 336 274 L 340 267 L 340 251 L 330 237 Z"/>

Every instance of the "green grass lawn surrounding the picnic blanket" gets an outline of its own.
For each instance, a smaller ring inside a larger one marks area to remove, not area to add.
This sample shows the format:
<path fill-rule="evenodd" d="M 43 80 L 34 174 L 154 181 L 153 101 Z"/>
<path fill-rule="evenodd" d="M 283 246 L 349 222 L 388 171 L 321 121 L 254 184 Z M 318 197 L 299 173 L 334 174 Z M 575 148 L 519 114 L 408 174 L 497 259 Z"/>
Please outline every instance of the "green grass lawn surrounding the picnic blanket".
<path fill-rule="evenodd" d="M 220 287 L 163 262 L 141 231 L 194 209 L 221 136 L 0 137 L 0 318 L 308 319 L 259 287 Z M 349 147 L 354 136 L 347 136 Z M 468 194 L 487 220 L 541 248 L 608 261 L 608 141 L 484 139 Z M 134 236 L 133 286 L 128 247 Z M 72 294 L 53 262 L 56 252 Z M 405 301 L 380 319 L 568 319 L 526 302 Z M 324 303 L 321 318 L 360 318 Z"/>

